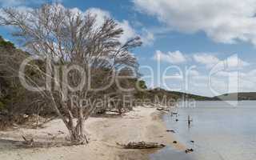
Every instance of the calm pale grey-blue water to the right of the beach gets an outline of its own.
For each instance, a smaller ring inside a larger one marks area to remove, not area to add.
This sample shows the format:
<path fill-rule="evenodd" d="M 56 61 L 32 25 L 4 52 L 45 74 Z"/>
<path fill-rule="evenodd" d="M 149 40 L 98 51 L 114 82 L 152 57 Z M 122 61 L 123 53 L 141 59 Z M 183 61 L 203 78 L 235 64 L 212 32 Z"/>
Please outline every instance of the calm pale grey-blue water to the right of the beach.
<path fill-rule="evenodd" d="M 178 142 L 193 148 L 194 153 L 167 147 L 152 159 L 256 159 L 256 101 L 239 102 L 237 107 L 226 102 L 196 102 L 194 108 L 179 108 L 178 114 L 178 122 L 175 116 L 166 115 L 166 125 L 176 130 Z M 190 127 L 188 115 L 193 119 Z"/>

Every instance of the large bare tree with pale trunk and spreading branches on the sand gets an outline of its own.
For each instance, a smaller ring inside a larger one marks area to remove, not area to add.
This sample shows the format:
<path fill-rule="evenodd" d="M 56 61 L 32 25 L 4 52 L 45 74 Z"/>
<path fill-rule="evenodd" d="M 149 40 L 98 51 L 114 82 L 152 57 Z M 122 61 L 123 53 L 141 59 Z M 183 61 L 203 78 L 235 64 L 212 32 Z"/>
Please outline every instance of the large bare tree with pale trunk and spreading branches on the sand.
<path fill-rule="evenodd" d="M 112 82 L 116 70 L 124 66 L 137 69 L 130 49 L 140 46 L 140 39 L 122 44 L 119 38 L 123 30 L 113 19 L 106 18 L 97 26 L 92 14 L 74 13 L 58 4 L 46 4 L 26 13 L 6 8 L 2 13 L 1 24 L 16 28 L 14 36 L 23 42 L 26 50 L 40 60 L 47 59 L 41 68 L 37 63 L 27 63 L 26 69 L 36 70 L 39 75 L 30 78 L 24 74 L 23 80 L 38 88 L 42 100 L 62 118 L 72 142 L 88 142 L 84 121 L 94 112 L 95 105 L 80 100 L 97 98 L 95 88 L 104 88 Z M 50 83 L 45 83 L 46 80 Z M 39 90 L 42 86 L 46 89 Z M 73 100 L 77 102 L 71 105 Z"/>

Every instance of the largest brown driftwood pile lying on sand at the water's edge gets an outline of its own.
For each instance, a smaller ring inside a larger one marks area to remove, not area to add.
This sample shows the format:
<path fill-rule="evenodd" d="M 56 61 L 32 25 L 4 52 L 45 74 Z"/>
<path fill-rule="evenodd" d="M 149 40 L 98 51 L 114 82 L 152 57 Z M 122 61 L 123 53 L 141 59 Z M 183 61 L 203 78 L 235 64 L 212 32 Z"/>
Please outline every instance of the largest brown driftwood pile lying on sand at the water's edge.
<path fill-rule="evenodd" d="M 166 145 L 159 144 L 157 142 L 129 142 L 128 144 L 119 144 L 119 146 L 122 146 L 125 149 L 152 149 L 152 148 L 162 148 Z"/>

